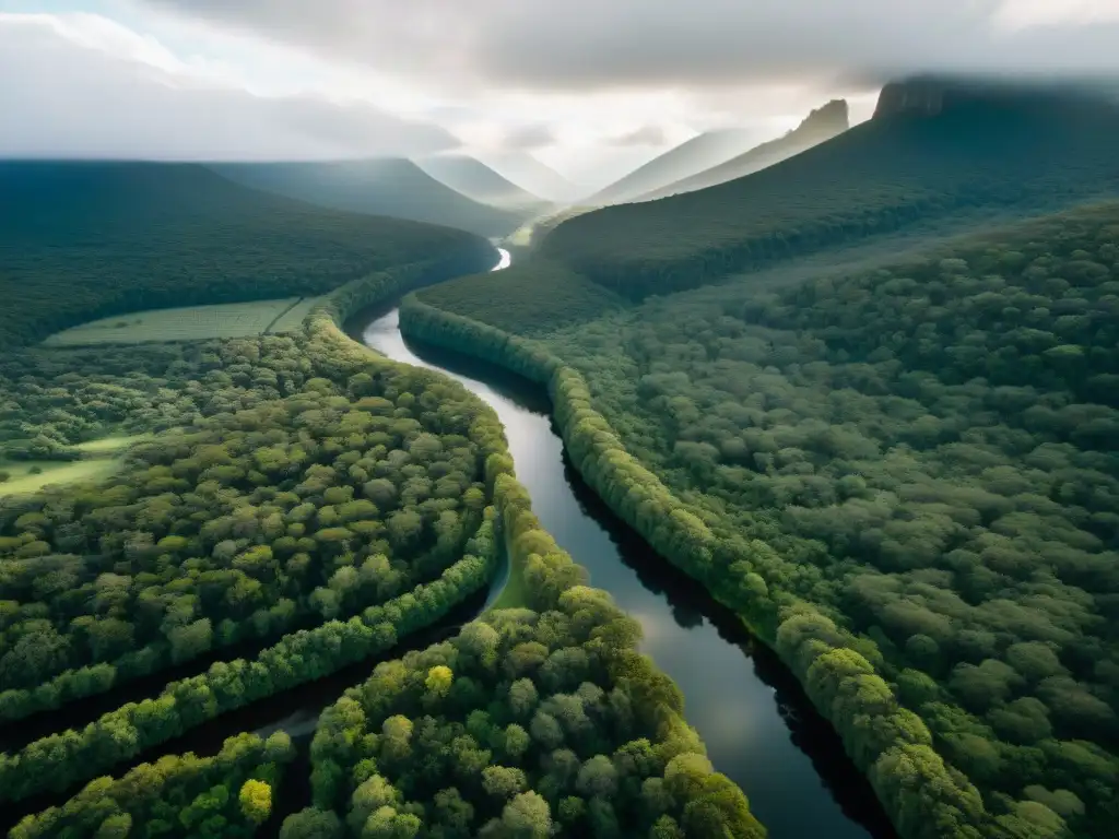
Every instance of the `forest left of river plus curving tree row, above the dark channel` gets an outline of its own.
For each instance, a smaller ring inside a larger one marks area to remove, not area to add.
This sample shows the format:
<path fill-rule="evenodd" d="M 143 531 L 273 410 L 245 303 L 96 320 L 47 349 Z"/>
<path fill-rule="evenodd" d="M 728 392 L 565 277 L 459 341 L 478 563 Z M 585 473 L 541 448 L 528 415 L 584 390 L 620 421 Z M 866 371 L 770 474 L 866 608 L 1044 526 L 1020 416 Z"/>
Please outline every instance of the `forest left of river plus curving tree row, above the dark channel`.
<path fill-rule="evenodd" d="M 344 286 L 335 304 L 397 280 Z M 224 710 L 387 651 L 492 577 L 483 470 L 502 437 L 491 413 L 449 379 L 363 351 L 329 307 L 307 329 L 301 341 L 8 356 L 10 409 L 38 407 L 23 389 L 49 392 L 56 425 L 23 424 L 62 437 L 64 456 L 116 420 L 113 403 L 91 408 L 81 388 L 54 380 L 75 367 L 93 393 L 121 388 L 115 409 L 137 409 L 131 427 L 173 427 L 105 483 L 0 503 L 4 719 L 245 639 L 264 649 L 0 755 L 4 799 L 67 789 Z M 153 416 L 161 396 L 169 411 Z"/>

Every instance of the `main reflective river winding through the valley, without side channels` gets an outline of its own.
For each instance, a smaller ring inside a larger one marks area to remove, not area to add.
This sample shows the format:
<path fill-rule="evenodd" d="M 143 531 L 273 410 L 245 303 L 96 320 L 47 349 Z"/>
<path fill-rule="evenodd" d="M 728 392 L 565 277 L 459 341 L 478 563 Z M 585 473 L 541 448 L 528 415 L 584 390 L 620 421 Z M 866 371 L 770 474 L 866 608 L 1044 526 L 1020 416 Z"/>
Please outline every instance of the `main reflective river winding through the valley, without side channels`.
<path fill-rule="evenodd" d="M 495 271 L 510 263 L 499 248 Z M 567 461 L 543 389 L 493 365 L 406 340 L 399 309 L 351 329 L 366 346 L 439 370 L 489 403 L 544 527 L 591 584 L 640 621 L 642 651 L 680 687 L 716 770 L 734 780 L 772 839 L 894 837 L 869 784 L 799 685 L 730 610 L 657 556 Z"/>

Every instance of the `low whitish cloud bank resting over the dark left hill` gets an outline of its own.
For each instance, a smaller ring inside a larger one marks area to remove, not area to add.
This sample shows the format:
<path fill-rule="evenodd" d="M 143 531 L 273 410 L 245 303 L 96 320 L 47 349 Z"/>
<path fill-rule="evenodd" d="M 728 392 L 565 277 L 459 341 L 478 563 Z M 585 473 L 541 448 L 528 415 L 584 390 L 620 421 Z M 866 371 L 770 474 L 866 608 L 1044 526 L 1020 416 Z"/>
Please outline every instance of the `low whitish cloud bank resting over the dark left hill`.
<path fill-rule="evenodd" d="M 443 129 L 364 103 L 253 95 L 219 67 L 94 15 L 0 13 L 0 78 L 6 157 L 333 158 L 458 145 Z"/>

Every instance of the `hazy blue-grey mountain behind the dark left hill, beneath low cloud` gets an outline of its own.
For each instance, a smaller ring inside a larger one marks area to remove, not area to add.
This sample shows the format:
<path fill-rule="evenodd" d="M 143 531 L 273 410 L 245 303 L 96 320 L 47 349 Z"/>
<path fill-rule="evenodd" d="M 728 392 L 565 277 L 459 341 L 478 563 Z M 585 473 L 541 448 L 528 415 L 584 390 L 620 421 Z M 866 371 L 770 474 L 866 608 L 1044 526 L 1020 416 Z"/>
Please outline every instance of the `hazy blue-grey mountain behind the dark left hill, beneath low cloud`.
<path fill-rule="evenodd" d="M 237 183 L 320 207 L 445 225 L 481 236 L 511 233 L 526 215 L 471 200 L 404 158 L 211 168 Z"/>

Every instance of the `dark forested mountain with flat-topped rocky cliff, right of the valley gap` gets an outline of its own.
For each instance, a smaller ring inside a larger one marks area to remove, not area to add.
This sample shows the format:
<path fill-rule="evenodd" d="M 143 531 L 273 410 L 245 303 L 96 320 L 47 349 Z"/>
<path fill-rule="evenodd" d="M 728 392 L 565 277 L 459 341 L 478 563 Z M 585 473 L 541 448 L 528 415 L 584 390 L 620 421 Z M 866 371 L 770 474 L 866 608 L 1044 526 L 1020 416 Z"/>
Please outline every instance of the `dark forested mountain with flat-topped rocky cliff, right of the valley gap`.
<path fill-rule="evenodd" d="M 825 143 L 720 186 L 576 216 L 535 253 L 631 299 L 665 294 L 918 223 L 1115 197 L 1117 135 L 1119 107 L 1094 94 L 892 85 L 874 119 Z"/>

